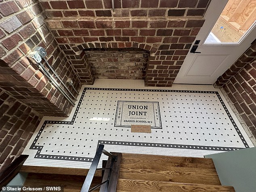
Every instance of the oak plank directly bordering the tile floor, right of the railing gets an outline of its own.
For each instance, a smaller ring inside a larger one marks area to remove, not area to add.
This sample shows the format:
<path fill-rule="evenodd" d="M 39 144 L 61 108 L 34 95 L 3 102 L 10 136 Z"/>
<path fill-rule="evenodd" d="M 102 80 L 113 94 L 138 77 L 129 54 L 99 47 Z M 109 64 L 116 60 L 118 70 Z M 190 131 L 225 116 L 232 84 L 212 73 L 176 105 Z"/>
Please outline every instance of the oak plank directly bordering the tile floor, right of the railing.
<path fill-rule="evenodd" d="M 215 169 L 212 159 L 122 153 L 121 167 L 168 170 L 168 167 Z M 165 168 L 164 168 L 165 167 Z"/>

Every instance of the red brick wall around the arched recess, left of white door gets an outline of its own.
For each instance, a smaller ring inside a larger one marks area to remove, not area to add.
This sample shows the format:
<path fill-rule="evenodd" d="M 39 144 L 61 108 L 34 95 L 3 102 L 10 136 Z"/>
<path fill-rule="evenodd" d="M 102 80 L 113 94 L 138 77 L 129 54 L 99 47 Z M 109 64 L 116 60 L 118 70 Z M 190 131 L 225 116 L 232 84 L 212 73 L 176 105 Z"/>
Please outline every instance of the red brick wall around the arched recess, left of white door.
<path fill-rule="evenodd" d="M 204 23 L 209 0 L 115 0 L 115 12 L 111 0 L 40 3 L 59 46 L 70 46 L 63 50 L 72 65 L 86 48 L 141 48 L 150 52 L 146 85 L 171 86 Z M 80 82 L 93 80 L 91 74 Z"/>

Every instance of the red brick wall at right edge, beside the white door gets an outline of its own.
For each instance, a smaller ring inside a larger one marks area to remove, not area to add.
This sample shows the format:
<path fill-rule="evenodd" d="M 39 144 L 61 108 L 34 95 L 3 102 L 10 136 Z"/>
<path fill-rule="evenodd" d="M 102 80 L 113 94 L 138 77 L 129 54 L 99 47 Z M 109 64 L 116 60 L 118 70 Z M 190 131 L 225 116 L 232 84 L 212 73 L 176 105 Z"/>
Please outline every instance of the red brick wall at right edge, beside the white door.
<path fill-rule="evenodd" d="M 256 41 L 239 59 L 215 82 L 224 88 L 227 96 L 237 109 L 256 138 Z"/>

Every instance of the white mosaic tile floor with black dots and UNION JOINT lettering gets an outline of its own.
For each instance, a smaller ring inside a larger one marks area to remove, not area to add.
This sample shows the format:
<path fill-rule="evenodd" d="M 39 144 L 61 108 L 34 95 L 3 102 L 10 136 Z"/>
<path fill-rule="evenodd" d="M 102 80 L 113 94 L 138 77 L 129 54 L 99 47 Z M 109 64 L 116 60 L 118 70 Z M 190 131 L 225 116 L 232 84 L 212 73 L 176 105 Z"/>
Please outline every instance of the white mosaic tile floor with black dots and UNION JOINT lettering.
<path fill-rule="evenodd" d="M 151 133 L 132 133 L 131 125 L 151 125 Z M 42 119 L 24 165 L 89 168 L 99 144 L 109 152 L 187 157 L 253 147 L 213 86 L 96 79 L 82 86 L 68 118 Z"/>

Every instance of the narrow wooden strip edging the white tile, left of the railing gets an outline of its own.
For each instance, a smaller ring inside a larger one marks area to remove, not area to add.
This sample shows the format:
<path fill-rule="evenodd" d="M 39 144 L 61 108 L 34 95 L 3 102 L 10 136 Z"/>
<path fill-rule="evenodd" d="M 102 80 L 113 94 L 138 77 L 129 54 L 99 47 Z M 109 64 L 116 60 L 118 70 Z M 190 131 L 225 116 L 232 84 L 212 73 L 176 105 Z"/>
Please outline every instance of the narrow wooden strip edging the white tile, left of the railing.
<path fill-rule="evenodd" d="M 23 165 L 21 172 L 26 173 L 49 173 L 62 175 L 87 175 L 89 169 L 66 168 L 66 167 L 46 167 L 46 166 L 29 166 Z M 101 171 L 96 171 L 95 176 L 100 177 Z"/>

